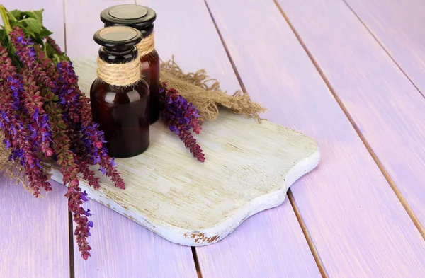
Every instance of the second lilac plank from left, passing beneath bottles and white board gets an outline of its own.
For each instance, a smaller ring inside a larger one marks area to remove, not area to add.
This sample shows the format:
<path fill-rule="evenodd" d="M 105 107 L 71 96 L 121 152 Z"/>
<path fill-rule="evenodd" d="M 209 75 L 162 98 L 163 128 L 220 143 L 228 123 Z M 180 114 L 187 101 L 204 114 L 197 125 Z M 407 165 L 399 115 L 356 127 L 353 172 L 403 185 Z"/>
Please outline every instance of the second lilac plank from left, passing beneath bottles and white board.
<path fill-rule="evenodd" d="M 98 52 L 93 40 L 103 27 L 99 15 L 103 8 L 134 1 L 65 1 L 67 52 L 74 60 Z M 142 228 L 125 216 L 96 202 L 87 204 L 94 213 L 94 248 L 91 259 L 81 260 L 74 244 L 75 277 L 197 277 L 191 248 L 175 245 Z"/>

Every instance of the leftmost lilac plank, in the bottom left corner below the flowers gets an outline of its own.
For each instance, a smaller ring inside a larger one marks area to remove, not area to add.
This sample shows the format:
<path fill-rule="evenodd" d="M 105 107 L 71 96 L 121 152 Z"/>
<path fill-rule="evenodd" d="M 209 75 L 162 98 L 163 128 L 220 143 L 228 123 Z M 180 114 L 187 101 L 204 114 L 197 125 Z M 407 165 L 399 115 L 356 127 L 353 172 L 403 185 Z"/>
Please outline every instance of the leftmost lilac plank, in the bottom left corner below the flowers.
<path fill-rule="evenodd" d="M 35 198 L 22 185 L 0 180 L 0 277 L 69 277 L 66 187 Z"/>

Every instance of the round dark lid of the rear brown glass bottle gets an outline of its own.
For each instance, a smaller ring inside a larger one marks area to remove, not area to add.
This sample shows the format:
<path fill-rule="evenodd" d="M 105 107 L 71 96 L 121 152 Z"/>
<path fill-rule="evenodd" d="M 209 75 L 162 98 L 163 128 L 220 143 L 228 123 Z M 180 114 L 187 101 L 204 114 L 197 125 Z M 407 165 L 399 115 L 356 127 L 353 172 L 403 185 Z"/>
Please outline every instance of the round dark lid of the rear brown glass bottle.
<path fill-rule="evenodd" d="M 152 8 L 134 4 L 111 6 L 101 12 L 101 21 L 106 25 L 125 25 L 137 30 L 151 28 L 156 18 Z"/>

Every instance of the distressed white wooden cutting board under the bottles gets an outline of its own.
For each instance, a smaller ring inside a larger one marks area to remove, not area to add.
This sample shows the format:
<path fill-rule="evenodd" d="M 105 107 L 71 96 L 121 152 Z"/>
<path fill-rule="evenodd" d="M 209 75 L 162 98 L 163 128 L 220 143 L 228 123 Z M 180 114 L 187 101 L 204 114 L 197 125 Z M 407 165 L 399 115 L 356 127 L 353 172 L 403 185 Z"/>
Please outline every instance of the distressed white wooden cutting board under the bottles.
<path fill-rule="evenodd" d="M 95 76 L 92 60 L 75 62 L 81 91 Z M 162 122 L 151 126 L 151 144 L 140 156 L 117 159 L 126 183 L 120 190 L 101 178 L 91 199 L 174 243 L 215 243 L 244 219 L 283 202 L 295 180 L 319 163 L 317 144 L 277 124 L 221 111 L 197 137 L 205 152 L 198 162 Z M 54 171 L 53 179 L 61 181 Z"/>

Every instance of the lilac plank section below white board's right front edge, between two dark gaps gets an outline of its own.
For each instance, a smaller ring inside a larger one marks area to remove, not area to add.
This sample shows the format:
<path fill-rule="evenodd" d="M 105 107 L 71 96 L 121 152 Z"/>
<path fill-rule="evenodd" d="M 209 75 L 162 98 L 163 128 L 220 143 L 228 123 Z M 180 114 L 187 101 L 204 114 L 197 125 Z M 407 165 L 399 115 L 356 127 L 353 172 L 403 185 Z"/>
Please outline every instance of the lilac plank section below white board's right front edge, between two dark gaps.
<path fill-rule="evenodd" d="M 219 243 L 196 248 L 202 277 L 322 277 L 296 221 L 287 199 Z"/>

